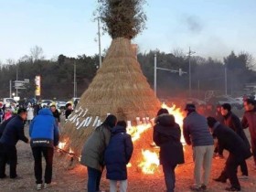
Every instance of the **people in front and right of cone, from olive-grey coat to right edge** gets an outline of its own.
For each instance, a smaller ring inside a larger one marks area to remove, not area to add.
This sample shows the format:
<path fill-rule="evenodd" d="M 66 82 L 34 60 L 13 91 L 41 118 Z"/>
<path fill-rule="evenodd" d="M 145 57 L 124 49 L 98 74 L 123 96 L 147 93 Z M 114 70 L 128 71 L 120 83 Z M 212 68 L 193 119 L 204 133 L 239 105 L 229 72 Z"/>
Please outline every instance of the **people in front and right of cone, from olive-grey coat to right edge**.
<path fill-rule="evenodd" d="M 230 186 L 227 191 L 240 191 L 239 179 L 249 176 L 246 159 L 253 155 L 256 165 L 256 108 L 255 101 L 244 101 L 242 121 L 231 111 L 231 105 L 224 103 L 217 112 L 202 115 L 197 112 L 194 104 L 187 104 L 184 119 L 183 134 L 187 145 L 192 145 L 194 160 L 194 185 L 192 191 L 207 191 L 211 166 L 214 157 L 224 158 L 223 150 L 227 150 L 224 169 L 219 177 L 213 180 Z M 243 129 L 249 127 L 251 145 Z M 81 165 L 88 168 L 89 192 L 100 191 L 101 174 L 104 166 L 107 178 L 110 179 L 110 191 L 116 192 L 117 182 L 120 191 L 127 190 L 127 170 L 133 153 L 131 136 L 126 133 L 126 123 L 118 122 L 115 116 L 107 117 L 101 126 L 97 127 L 86 141 L 81 152 Z M 180 142 L 181 129 L 175 117 L 166 109 L 160 109 L 155 118 L 153 140 L 160 147 L 160 164 L 163 166 L 167 192 L 174 192 L 176 185 L 176 165 L 184 164 L 183 145 Z M 217 140 L 217 144 L 215 144 Z M 251 153 L 252 150 L 252 153 Z M 241 176 L 238 176 L 238 167 Z M 253 167 L 256 169 L 256 166 Z"/>

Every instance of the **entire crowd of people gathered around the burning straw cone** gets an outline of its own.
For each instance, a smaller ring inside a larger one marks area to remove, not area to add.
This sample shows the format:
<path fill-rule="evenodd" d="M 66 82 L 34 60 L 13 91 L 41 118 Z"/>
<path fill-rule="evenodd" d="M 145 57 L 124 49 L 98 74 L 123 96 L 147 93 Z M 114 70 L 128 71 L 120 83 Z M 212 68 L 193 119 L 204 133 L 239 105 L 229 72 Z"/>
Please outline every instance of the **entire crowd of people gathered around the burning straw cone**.
<path fill-rule="evenodd" d="M 232 112 L 231 105 L 224 103 L 216 113 L 202 115 L 197 112 L 194 104 L 187 104 L 187 113 L 183 123 L 183 135 L 187 145 L 193 149 L 194 185 L 192 191 L 206 191 L 209 186 L 211 166 L 214 157 L 224 158 L 223 151 L 229 156 L 224 169 L 214 181 L 230 186 L 227 191 L 240 191 L 240 179 L 249 176 L 246 160 L 253 156 L 256 169 L 256 107 L 255 101 L 244 101 L 244 115 L 240 118 Z M 67 106 L 65 118 L 72 112 Z M 7 113 L 7 114 L 6 114 Z M 29 116 L 31 115 L 31 116 Z M 8 116 L 8 118 L 6 118 Z M 30 144 L 35 165 L 37 190 L 52 185 L 52 164 L 54 146 L 59 143 L 59 112 L 55 105 L 42 108 L 35 113 L 35 107 L 19 108 L 16 115 L 4 114 L 0 125 L 0 178 L 4 179 L 5 165 L 10 167 L 10 178 L 17 179 L 16 143 L 21 140 Z M 25 136 L 25 122 L 29 125 L 29 139 Z M 81 151 L 80 164 L 87 166 L 89 192 L 100 191 L 101 175 L 104 167 L 107 179 L 110 180 L 110 191 L 116 192 L 119 186 L 121 192 L 126 192 L 128 176 L 126 165 L 133 155 L 131 135 L 126 133 L 127 124 L 119 121 L 114 115 L 109 115 L 104 123 L 98 126 Z M 243 129 L 249 128 L 251 144 Z M 160 109 L 155 117 L 153 141 L 160 148 L 160 164 L 163 166 L 167 192 L 174 192 L 176 186 L 177 165 L 184 164 L 183 144 L 181 144 L 181 128 L 175 117 L 166 109 Z M 217 144 L 215 141 L 218 141 Z M 46 160 L 45 176 L 42 176 L 42 155 Z M 238 176 L 240 166 L 241 176 Z"/>

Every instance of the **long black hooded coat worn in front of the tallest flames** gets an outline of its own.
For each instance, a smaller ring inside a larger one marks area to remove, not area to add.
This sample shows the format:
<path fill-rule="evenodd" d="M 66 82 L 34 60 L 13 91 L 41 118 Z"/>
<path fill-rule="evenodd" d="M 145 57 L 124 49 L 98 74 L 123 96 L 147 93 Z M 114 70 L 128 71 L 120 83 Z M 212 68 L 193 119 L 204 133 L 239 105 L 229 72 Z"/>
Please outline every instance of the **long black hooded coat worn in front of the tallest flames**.
<path fill-rule="evenodd" d="M 155 119 L 153 140 L 160 146 L 160 164 L 184 164 L 183 145 L 180 142 L 181 131 L 169 114 L 162 114 Z"/>

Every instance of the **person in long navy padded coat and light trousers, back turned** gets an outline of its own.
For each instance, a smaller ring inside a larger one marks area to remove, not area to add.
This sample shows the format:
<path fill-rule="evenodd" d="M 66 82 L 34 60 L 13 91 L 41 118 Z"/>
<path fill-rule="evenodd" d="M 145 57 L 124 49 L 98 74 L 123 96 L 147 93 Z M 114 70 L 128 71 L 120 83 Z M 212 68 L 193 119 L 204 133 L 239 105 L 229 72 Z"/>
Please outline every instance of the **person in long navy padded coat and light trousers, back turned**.
<path fill-rule="evenodd" d="M 112 129 L 112 137 L 106 148 L 104 161 L 107 168 L 107 179 L 110 179 L 110 192 L 117 191 L 117 182 L 120 182 L 120 192 L 127 190 L 127 169 L 133 155 L 131 135 L 126 133 L 127 124 L 120 121 Z"/>

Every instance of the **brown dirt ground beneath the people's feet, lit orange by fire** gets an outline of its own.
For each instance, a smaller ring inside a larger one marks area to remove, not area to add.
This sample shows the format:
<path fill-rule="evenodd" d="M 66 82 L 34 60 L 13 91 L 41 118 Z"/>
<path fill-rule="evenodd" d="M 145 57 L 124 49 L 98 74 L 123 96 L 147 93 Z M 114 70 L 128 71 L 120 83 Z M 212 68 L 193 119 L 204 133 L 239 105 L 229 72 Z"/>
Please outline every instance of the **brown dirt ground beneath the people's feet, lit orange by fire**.
<path fill-rule="evenodd" d="M 247 133 L 248 134 L 248 133 Z M 17 144 L 18 152 L 18 165 L 17 174 L 22 176 L 21 179 L 11 180 L 6 178 L 0 180 L 0 192 L 29 192 L 36 191 L 35 177 L 33 171 L 33 157 L 30 146 L 19 142 Z M 193 184 L 193 163 L 191 147 L 186 147 L 186 164 L 176 167 L 176 191 L 190 191 L 188 188 Z M 224 154 L 226 157 L 228 154 Z M 53 181 L 57 183 L 56 186 L 44 189 L 44 191 L 87 191 L 87 173 L 85 167 L 76 165 L 69 167 L 69 156 L 65 158 L 59 157 L 59 153 L 56 152 L 54 157 L 54 171 Z M 225 160 L 213 160 L 211 179 L 209 185 L 209 192 L 224 191 L 225 187 L 229 184 L 219 184 L 212 181 L 212 178 L 219 176 Z M 248 180 L 240 180 L 242 191 L 256 191 L 256 171 L 252 169 L 252 158 L 247 161 L 250 177 Z M 9 174 L 8 167 L 6 167 L 6 174 Z M 240 171 L 239 171 L 240 175 Z M 103 173 L 101 182 L 101 190 L 109 190 L 108 180 L 105 179 L 105 173 Z M 165 191 L 164 176 L 162 173 L 162 167 L 155 175 L 145 176 L 137 171 L 129 170 L 129 186 L 130 192 L 161 192 Z"/>

